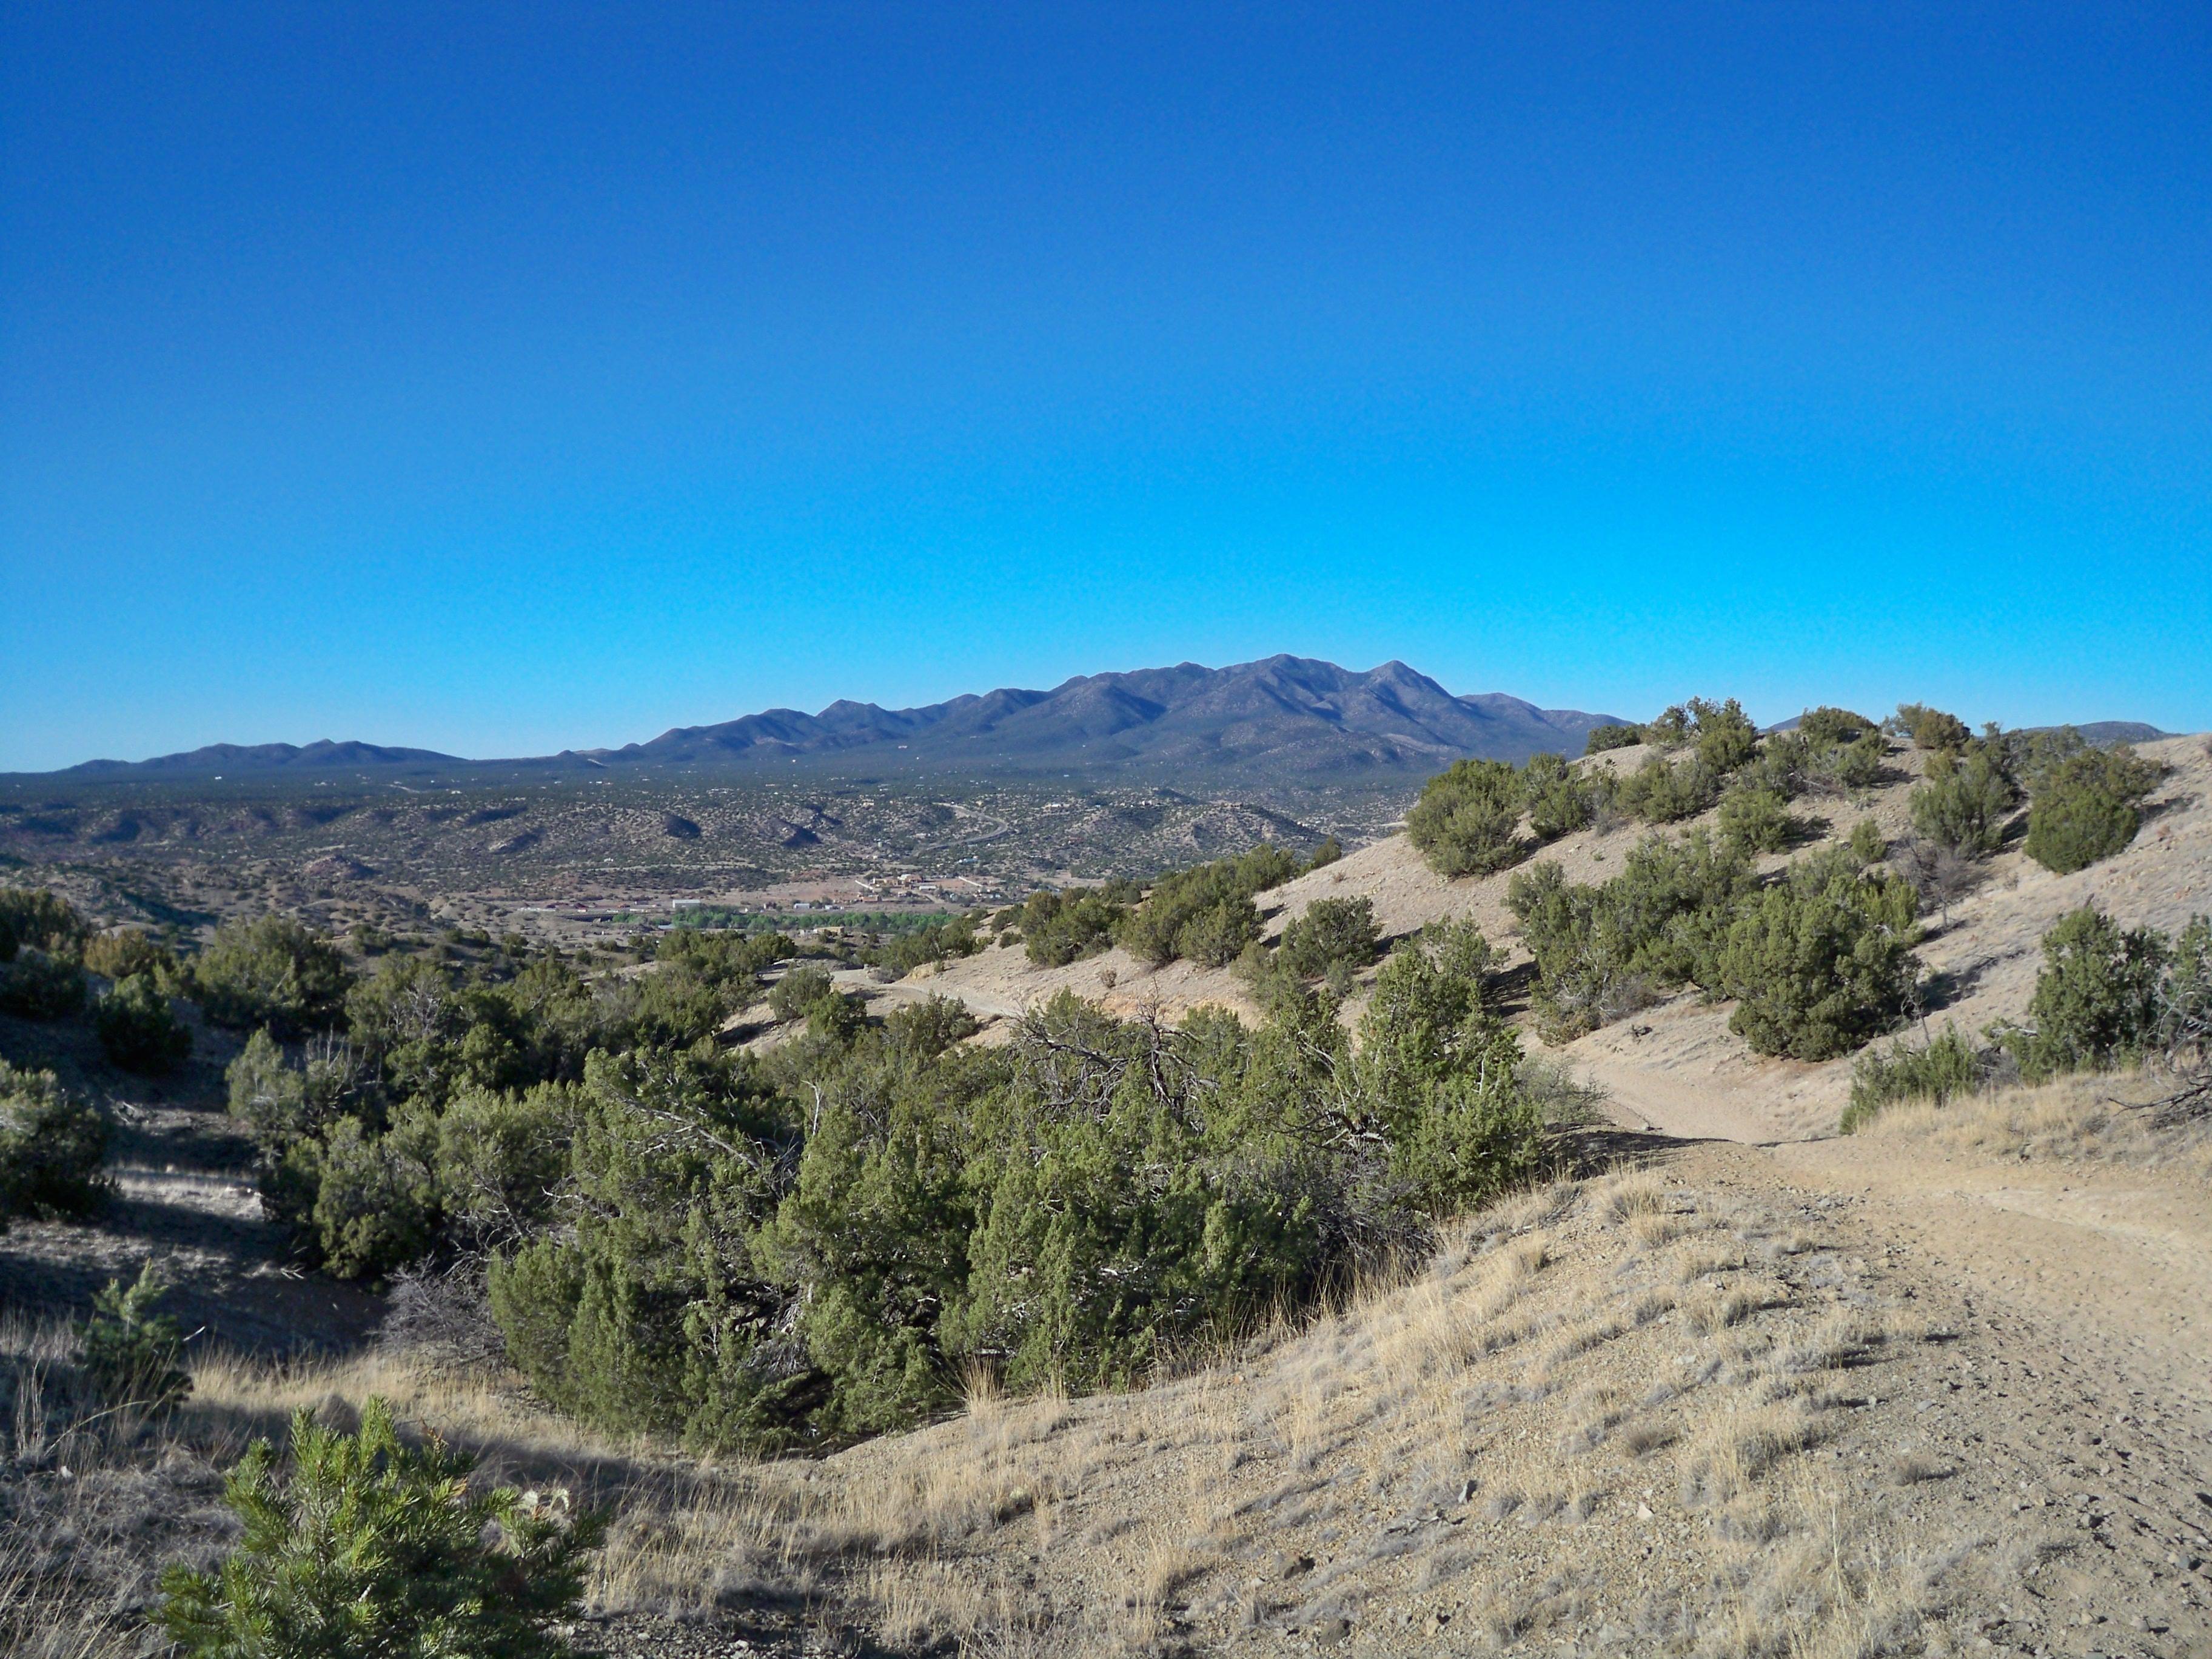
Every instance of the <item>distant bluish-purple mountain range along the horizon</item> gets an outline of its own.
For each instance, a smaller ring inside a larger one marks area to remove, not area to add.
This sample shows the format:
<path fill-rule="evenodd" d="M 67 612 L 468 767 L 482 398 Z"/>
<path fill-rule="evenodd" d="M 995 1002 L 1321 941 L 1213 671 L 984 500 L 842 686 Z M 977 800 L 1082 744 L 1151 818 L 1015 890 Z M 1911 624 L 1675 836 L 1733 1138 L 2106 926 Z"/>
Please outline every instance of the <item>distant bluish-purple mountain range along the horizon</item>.
<path fill-rule="evenodd" d="M 1453 697 L 1400 661 L 1356 672 L 1310 657 L 1232 668 L 1177 664 L 1079 675 L 1053 690 L 1002 688 L 927 708 L 836 701 L 818 714 L 770 708 L 679 726 L 615 750 L 467 761 L 376 743 L 215 743 L 153 761 L 86 761 L 69 776 L 186 779 L 270 772 L 456 768 L 686 770 L 792 776 L 1203 776 L 1254 783 L 1418 779 L 1462 757 L 1579 754 L 1610 714 L 1537 708 L 1486 692 Z"/>

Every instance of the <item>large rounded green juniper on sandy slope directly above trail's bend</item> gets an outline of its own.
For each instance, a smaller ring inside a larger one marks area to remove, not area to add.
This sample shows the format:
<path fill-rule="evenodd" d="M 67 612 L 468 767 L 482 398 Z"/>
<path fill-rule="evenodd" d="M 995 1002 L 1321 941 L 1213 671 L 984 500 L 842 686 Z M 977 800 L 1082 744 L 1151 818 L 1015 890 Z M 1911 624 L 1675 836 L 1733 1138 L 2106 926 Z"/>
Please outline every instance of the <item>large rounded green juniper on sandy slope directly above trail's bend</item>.
<path fill-rule="evenodd" d="M 1719 953 L 1728 1029 L 1763 1055 L 1832 1060 L 1905 1011 L 1918 975 L 1918 898 L 1847 847 L 1809 854 L 1750 900 Z"/>

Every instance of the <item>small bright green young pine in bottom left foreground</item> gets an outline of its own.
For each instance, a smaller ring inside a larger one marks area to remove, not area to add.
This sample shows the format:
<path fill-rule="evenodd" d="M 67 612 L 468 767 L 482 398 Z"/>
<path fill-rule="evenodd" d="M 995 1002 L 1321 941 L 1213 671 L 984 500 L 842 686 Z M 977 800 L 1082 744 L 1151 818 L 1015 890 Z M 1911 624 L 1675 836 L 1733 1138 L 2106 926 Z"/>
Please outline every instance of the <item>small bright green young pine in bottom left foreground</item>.
<path fill-rule="evenodd" d="M 568 1652 L 597 1515 L 511 1486 L 473 1489 L 473 1458 L 400 1440 L 372 1398 L 361 1431 L 292 1418 L 292 1471 L 257 1442 L 223 1486 L 239 1546 L 215 1573 L 173 1566 L 159 1624 L 190 1659 Z"/>

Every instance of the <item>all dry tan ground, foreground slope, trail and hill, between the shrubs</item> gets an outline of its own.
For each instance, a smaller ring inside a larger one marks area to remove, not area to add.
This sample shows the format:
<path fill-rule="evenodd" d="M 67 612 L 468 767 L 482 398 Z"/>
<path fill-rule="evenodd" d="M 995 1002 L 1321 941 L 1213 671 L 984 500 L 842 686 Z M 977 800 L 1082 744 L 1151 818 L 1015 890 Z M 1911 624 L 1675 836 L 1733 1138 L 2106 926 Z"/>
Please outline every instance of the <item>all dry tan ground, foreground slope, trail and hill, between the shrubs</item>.
<path fill-rule="evenodd" d="M 2212 752 L 2150 752 L 2172 772 L 2130 849 L 2068 878 L 2004 852 L 1938 918 L 1938 1020 L 2017 1013 L 2039 931 L 2084 896 L 2168 929 L 2208 907 Z M 1896 830 L 1920 761 L 1889 768 L 1867 801 L 1801 810 Z M 1548 856 L 1597 878 L 1639 834 Z M 1276 889 L 1270 927 L 1367 894 L 1394 933 L 1473 916 L 1509 945 L 1502 889 L 1394 836 Z M 1060 987 L 1243 998 L 1121 953 L 847 982 L 878 1006 L 956 991 L 1000 1035 Z M 927 1427 L 752 1460 L 555 1416 L 467 1323 L 458 1356 L 405 1321 L 376 1340 L 387 1298 L 303 1272 L 252 1197 L 223 1113 L 239 1037 L 192 1029 L 192 1062 L 148 1082 L 82 1020 L 0 1018 L 0 1051 L 117 1130 L 93 1217 L 0 1239 L 0 1619 L 40 1630 L 33 1652 L 144 1652 L 159 1566 L 232 1535 L 217 1493 L 246 1438 L 372 1394 L 498 1480 L 615 1511 L 571 1630 L 611 1659 L 2212 1648 L 2212 1119 L 2130 1110 L 2148 1077 L 1838 1139 L 1849 1062 L 1756 1060 L 1725 1009 L 1677 998 L 1557 1051 L 1624 1128 L 1564 1126 L 1533 1183 L 1433 1250 L 1172 1352 L 1148 1387 L 1002 1398 L 975 1369 Z M 146 1259 L 177 1279 L 195 1391 L 115 1422 L 60 1321 Z"/>

